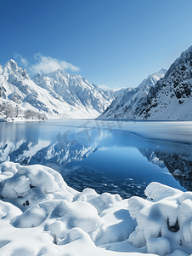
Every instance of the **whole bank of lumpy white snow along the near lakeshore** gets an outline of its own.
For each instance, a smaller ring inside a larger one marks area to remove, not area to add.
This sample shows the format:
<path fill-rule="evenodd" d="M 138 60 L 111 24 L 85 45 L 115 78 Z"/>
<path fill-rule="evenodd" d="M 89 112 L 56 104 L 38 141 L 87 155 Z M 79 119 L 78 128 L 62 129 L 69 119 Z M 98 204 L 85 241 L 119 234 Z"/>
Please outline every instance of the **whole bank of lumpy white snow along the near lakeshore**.
<path fill-rule="evenodd" d="M 192 253 L 192 192 L 150 183 L 146 199 L 78 192 L 53 169 L 0 165 L 0 255 Z"/>

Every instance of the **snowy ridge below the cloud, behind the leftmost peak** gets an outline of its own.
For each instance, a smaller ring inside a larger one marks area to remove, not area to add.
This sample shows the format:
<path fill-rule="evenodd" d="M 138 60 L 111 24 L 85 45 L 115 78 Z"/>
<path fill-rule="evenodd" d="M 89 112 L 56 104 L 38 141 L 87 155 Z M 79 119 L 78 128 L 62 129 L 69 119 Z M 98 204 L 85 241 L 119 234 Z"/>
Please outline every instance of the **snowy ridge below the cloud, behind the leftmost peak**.
<path fill-rule="evenodd" d="M 102 113 L 115 98 L 113 90 L 103 90 L 82 76 L 65 73 L 64 70 L 46 75 L 37 73 L 32 80 L 61 101 L 94 115 Z"/>

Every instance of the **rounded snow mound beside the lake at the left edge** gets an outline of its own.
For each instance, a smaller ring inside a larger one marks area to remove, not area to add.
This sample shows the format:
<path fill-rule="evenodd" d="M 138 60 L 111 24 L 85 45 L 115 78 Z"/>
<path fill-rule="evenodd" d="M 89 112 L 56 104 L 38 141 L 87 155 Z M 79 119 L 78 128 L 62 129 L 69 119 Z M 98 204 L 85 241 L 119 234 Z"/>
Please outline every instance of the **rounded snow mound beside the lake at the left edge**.
<path fill-rule="evenodd" d="M 66 185 L 59 172 L 46 166 L 20 166 L 4 162 L 0 165 L 0 181 L 1 197 L 14 199 L 22 210 L 54 198 L 72 201 L 77 194 Z"/>

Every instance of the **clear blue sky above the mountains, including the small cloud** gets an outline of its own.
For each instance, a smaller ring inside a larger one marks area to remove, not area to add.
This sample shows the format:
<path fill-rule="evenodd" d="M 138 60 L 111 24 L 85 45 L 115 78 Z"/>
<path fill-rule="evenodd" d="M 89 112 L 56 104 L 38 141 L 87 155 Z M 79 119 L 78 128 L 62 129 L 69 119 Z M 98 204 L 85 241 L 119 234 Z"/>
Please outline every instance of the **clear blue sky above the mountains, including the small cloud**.
<path fill-rule="evenodd" d="M 135 87 L 192 44 L 191 0 L 1 0 L 0 64 Z"/>

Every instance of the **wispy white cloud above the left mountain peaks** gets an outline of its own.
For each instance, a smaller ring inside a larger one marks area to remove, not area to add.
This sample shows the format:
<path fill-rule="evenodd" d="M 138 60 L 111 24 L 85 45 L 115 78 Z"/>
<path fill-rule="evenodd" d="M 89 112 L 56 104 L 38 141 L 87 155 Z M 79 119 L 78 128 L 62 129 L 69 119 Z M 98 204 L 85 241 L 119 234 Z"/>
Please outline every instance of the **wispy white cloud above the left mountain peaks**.
<path fill-rule="evenodd" d="M 51 73 L 57 69 L 70 69 L 71 71 L 79 71 L 80 68 L 68 63 L 66 61 L 59 61 L 58 59 L 53 59 L 50 56 L 44 56 L 37 54 L 34 56 L 37 63 L 31 65 L 31 73 Z"/>

